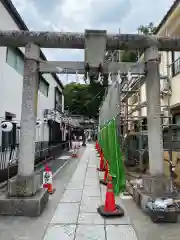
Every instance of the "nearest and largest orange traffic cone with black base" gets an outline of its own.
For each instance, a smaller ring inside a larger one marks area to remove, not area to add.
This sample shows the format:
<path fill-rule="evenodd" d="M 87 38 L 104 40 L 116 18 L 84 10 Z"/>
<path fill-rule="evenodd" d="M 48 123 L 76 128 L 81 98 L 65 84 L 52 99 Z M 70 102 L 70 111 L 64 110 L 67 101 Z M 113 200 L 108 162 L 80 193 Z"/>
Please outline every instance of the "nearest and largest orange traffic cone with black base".
<path fill-rule="evenodd" d="M 113 192 L 112 176 L 108 177 L 107 192 L 105 205 L 101 205 L 97 209 L 98 213 L 103 217 L 122 217 L 124 210 L 115 204 L 115 196 Z"/>

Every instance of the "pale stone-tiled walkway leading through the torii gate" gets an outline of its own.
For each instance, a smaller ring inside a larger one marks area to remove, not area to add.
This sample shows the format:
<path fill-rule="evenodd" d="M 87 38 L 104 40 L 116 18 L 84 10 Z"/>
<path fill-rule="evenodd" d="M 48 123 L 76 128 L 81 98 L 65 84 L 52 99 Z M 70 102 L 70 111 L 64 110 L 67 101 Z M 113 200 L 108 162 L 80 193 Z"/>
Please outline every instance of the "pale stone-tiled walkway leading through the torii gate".
<path fill-rule="evenodd" d="M 44 240 L 137 240 L 126 214 L 105 220 L 97 213 L 106 192 L 99 185 L 97 164 L 94 146 L 89 144 L 60 199 Z M 122 206 L 120 198 L 117 203 Z"/>

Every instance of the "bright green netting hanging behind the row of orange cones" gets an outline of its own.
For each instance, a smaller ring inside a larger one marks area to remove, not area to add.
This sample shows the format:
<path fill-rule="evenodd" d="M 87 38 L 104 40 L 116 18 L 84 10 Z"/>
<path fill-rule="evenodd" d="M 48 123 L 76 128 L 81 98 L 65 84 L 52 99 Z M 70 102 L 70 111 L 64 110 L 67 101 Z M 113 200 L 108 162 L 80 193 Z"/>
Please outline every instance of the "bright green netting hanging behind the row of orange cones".
<path fill-rule="evenodd" d="M 108 160 L 109 172 L 113 176 L 114 193 L 119 195 L 120 192 L 124 191 L 125 172 L 115 119 L 101 129 L 98 139 L 104 158 Z"/>

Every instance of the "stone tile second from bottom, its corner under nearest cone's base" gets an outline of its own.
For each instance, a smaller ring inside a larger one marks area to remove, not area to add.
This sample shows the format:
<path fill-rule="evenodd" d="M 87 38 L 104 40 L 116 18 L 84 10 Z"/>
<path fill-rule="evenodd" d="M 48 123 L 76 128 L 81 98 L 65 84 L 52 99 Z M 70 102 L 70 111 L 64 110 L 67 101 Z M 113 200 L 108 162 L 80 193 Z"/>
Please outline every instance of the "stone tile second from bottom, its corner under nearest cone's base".
<path fill-rule="evenodd" d="M 78 224 L 104 225 L 104 218 L 102 218 L 97 212 L 80 212 Z"/>

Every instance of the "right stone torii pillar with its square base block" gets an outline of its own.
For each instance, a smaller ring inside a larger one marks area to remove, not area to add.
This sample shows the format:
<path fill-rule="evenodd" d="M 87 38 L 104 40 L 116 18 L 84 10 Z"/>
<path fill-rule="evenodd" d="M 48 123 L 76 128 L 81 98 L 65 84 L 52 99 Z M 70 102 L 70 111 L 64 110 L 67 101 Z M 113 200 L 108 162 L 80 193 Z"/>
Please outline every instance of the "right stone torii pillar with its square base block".
<path fill-rule="evenodd" d="M 143 183 L 146 193 L 162 196 L 172 191 L 172 184 L 171 179 L 164 176 L 158 49 L 147 48 L 144 57 L 150 175 L 143 177 Z"/>

